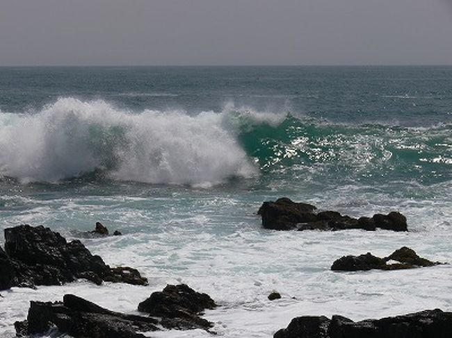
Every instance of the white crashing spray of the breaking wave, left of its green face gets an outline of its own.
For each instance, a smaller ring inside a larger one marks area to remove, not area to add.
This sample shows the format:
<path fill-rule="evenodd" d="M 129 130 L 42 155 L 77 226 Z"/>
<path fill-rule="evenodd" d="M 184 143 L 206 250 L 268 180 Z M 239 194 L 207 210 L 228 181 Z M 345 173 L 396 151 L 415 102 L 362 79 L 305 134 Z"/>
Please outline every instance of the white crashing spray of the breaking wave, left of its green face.
<path fill-rule="evenodd" d="M 95 169 L 145 183 L 211 185 L 257 168 L 236 140 L 244 124 L 282 116 L 252 110 L 131 113 L 105 101 L 58 99 L 29 115 L 0 115 L 0 176 L 56 181 Z"/>

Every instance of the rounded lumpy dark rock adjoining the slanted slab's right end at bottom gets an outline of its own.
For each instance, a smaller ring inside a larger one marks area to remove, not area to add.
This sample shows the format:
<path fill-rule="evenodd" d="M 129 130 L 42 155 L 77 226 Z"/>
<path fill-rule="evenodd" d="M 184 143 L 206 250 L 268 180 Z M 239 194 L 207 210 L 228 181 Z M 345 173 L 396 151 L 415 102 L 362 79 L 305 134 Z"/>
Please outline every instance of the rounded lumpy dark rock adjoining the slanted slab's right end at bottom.
<path fill-rule="evenodd" d="M 217 305 L 207 294 L 200 294 L 185 284 L 166 285 L 163 291 L 154 292 L 138 305 L 138 311 L 162 317 L 165 328 L 211 328 L 213 324 L 200 318 L 205 309 Z"/>

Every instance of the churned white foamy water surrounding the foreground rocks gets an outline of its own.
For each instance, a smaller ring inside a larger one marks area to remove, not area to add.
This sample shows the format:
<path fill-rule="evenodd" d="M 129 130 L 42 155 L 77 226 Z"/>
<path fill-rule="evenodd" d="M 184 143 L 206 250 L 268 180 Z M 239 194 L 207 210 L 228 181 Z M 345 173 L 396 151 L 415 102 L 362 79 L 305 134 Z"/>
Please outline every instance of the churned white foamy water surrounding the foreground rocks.
<path fill-rule="evenodd" d="M 446 244 L 449 233 L 426 236 L 389 231 L 272 232 L 258 226 L 232 230 L 229 235 L 207 234 L 204 229 L 179 228 L 168 233 L 139 233 L 123 238 L 85 240 L 108 264 L 130 264 L 150 278 L 150 286 L 106 283 L 96 286 L 74 282 L 38 290 L 13 288 L 0 298 L 1 337 L 13 337 L 13 323 L 26 318 L 29 301 L 57 301 L 72 293 L 111 310 L 137 313 L 140 301 L 166 283 L 184 282 L 207 292 L 220 305 L 205 318 L 220 337 L 271 337 L 294 316 L 342 314 L 354 320 L 405 314 L 452 306 L 450 265 L 412 271 L 330 271 L 344 254 L 371 251 L 388 255 L 404 245 L 431 260 L 451 262 Z M 124 245 L 134 237 L 139 242 Z M 120 243 L 122 242 L 122 244 Z M 344 242 L 347 248 L 344 250 Z M 279 291 L 282 298 L 268 301 Z M 209 337 L 206 332 L 153 332 L 152 337 Z"/>

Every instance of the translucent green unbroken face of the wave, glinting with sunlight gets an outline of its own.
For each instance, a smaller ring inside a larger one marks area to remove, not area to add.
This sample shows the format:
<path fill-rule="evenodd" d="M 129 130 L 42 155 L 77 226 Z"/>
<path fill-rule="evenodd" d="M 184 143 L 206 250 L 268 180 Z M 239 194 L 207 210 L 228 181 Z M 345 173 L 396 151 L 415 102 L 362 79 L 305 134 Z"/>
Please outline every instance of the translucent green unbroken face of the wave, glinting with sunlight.
<path fill-rule="evenodd" d="M 325 180 L 452 178 L 452 126 L 341 125 L 287 115 L 277 126 L 245 124 L 239 142 L 266 173 L 309 174 Z"/>

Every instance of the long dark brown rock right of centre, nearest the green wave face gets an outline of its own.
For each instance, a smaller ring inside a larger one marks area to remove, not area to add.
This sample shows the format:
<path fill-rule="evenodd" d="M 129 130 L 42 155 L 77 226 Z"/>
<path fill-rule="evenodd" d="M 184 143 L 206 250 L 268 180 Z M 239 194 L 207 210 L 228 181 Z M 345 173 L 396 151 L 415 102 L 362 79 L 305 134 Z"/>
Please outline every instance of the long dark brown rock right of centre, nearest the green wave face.
<path fill-rule="evenodd" d="M 407 231 L 405 216 L 400 212 L 375 214 L 373 217 L 354 219 L 337 211 L 316 212 L 316 207 L 307 203 L 296 203 L 289 198 L 266 201 L 257 214 L 262 217 L 262 226 L 274 230 L 344 230 L 382 228 Z"/>

